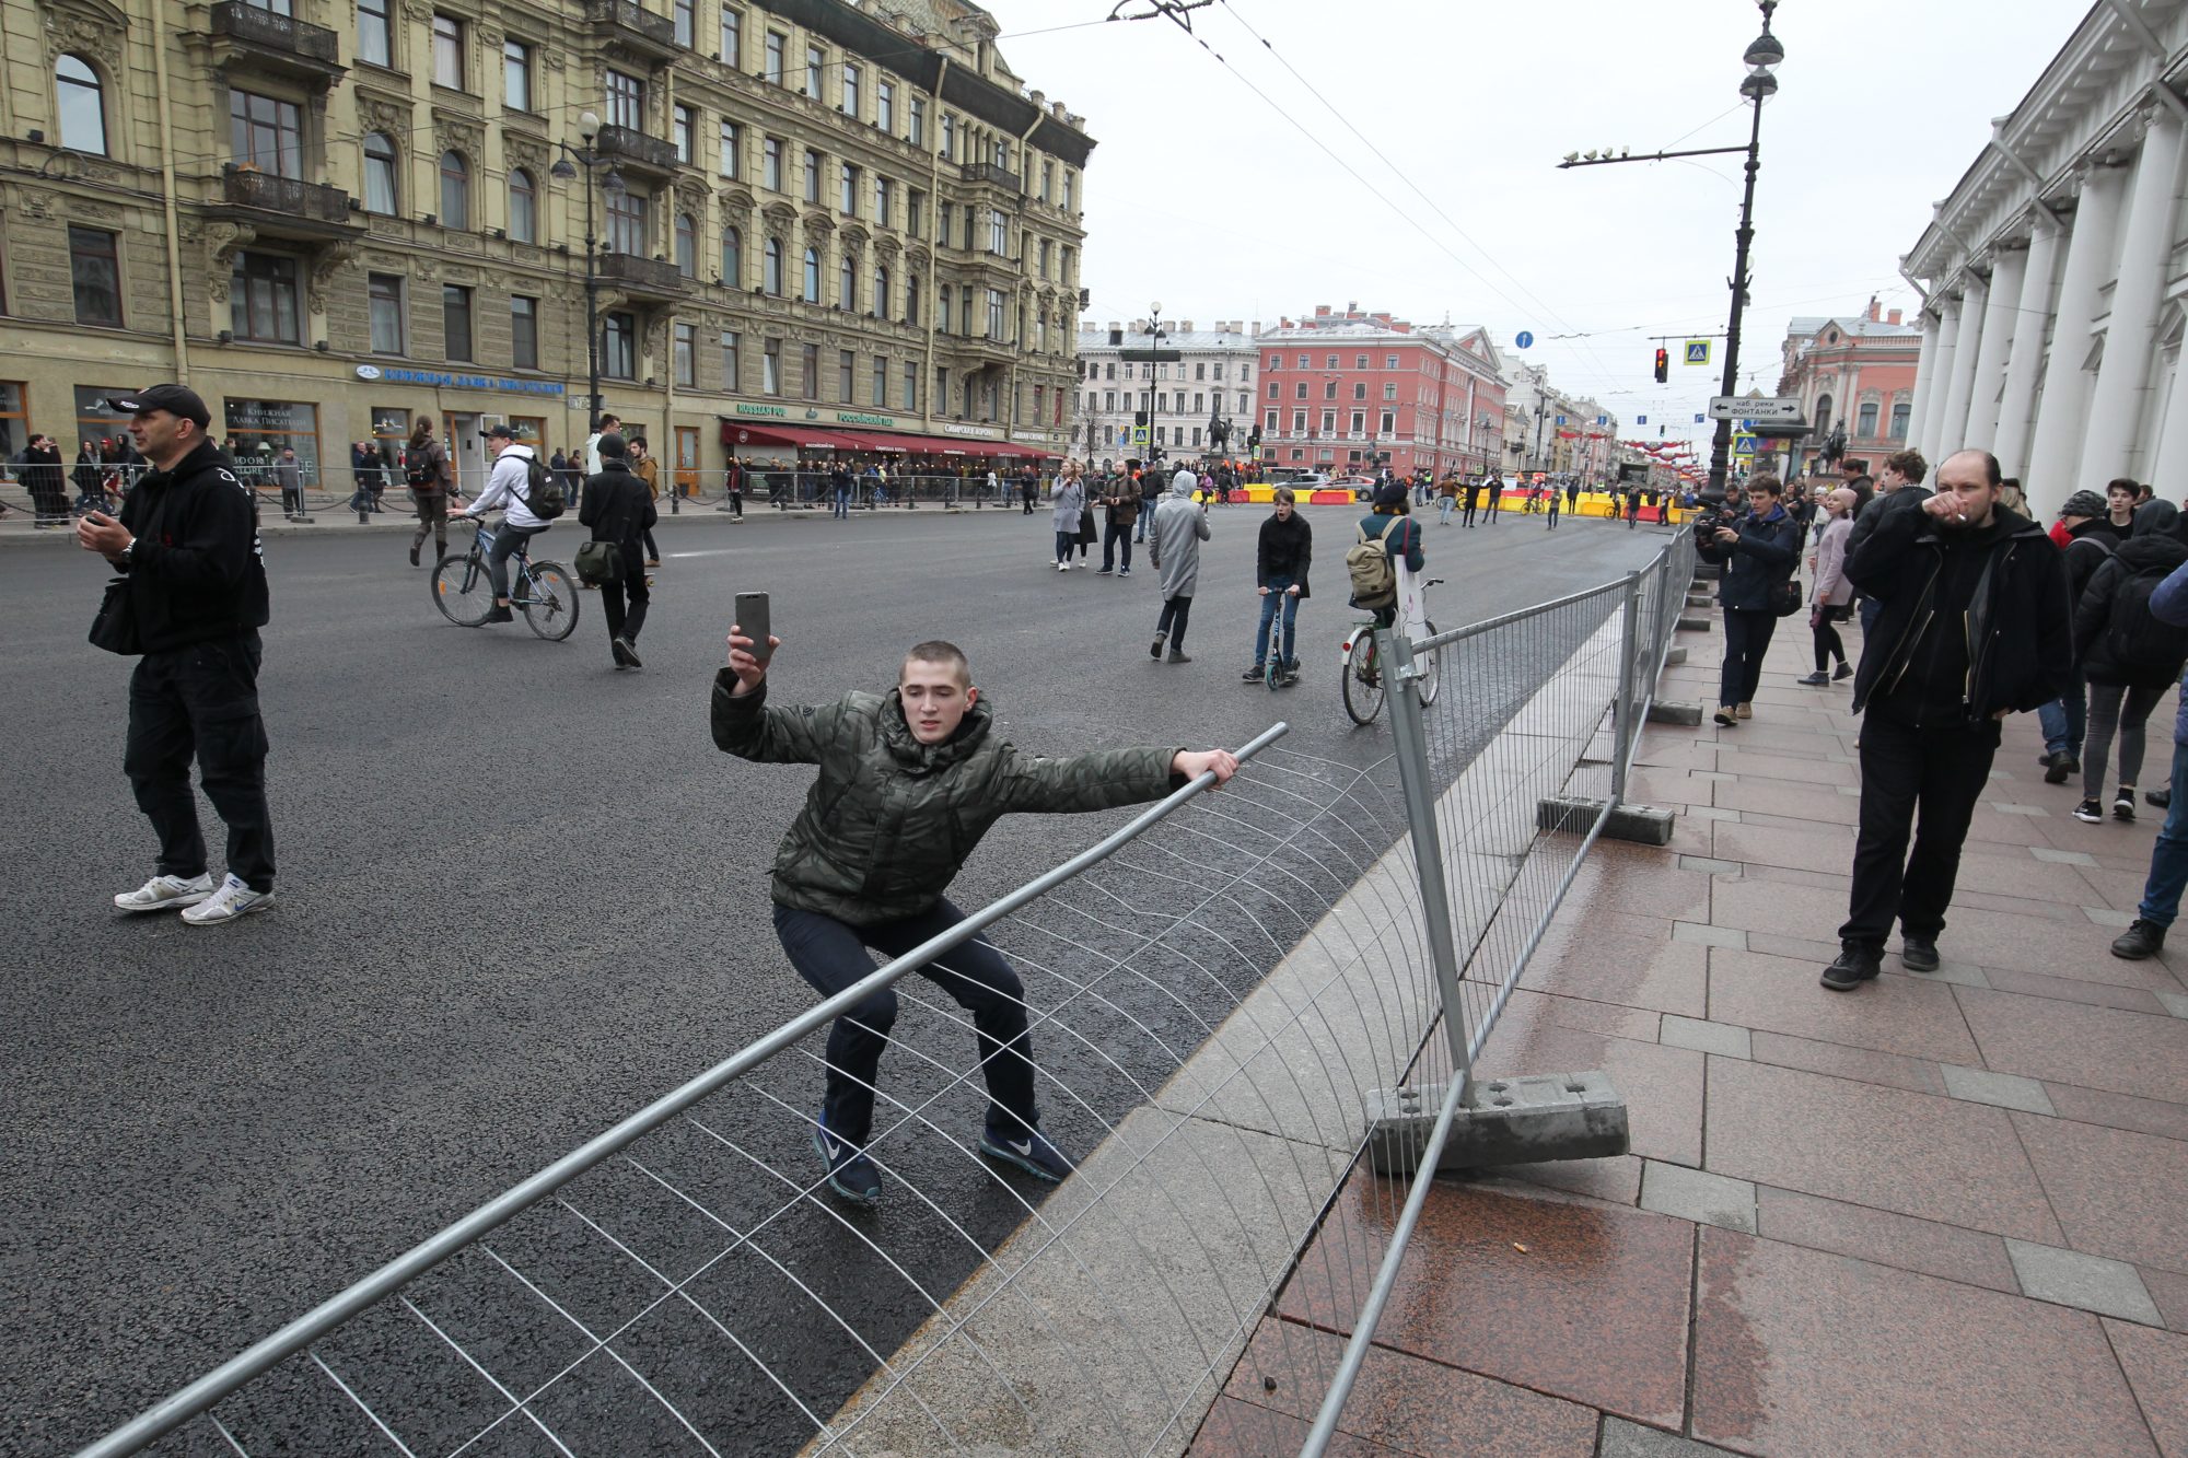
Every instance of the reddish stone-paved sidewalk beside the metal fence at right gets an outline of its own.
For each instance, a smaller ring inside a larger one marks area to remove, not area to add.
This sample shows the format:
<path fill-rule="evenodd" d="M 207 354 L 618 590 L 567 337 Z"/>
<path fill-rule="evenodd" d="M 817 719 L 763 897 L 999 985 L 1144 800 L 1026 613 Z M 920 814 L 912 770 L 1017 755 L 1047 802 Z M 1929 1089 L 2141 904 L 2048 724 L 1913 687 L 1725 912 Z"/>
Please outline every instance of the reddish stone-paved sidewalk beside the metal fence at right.
<path fill-rule="evenodd" d="M 1661 694 L 1713 703 L 1722 639 L 1678 641 Z M 1674 843 L 1591 854 L 1483 1055 L 1608 1068 L 1632 1154 L 1440 1182 L 1332 1451 L 2188 1456 L 2188 941 L 2107 950 L 2162 817 L 2074 821 L 2009 720 L 1943 970 L 1895 939 L 1825 992 L 1860 720 L 1807 668 L 1788 620 L 1753 720 L 1643 736 L 1632 795 L 1678 806 Z M 1332 1265 L 1385 1248 L 1365 1180 Z M 1335 1364 L 1365 1276 L 1300 1270 L 1195 1454 L 1304 1436 L 1295 1357 Z"/>

